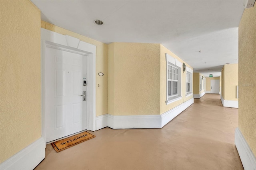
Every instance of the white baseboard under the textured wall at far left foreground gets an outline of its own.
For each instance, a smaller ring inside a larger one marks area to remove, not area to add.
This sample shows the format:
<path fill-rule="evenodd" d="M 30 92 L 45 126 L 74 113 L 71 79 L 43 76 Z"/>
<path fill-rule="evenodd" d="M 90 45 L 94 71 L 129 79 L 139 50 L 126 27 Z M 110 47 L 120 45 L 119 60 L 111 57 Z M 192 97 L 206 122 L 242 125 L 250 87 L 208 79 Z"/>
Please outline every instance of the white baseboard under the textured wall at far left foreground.
<path fill-rule="evenodd" d="M 45 141 L 41 137 L 0 164 L 1 170 L 32 170 L 45 158 Z"/>

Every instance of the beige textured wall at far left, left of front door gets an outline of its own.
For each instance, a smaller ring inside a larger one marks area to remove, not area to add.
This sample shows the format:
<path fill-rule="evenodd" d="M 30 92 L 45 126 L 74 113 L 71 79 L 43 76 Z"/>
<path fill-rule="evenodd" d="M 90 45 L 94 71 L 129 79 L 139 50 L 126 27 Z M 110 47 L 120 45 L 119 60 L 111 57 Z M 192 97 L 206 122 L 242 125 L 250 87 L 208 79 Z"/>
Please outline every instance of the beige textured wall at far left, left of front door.
<path fill-rule="evenodd" d="M 41 137 L 40 10 L 0 2 L 0 162 Z"/>

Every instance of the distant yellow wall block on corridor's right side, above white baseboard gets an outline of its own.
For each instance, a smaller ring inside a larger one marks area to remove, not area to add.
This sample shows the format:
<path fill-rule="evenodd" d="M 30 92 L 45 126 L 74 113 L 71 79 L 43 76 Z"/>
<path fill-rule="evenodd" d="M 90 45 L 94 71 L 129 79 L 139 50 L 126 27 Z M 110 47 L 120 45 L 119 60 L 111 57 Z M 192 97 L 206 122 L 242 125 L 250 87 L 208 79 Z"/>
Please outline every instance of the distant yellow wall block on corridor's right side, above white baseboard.
<path fill-rule="evenodd" d="M 236 98 L 236 86 L 238 85 L 238 64 L 224 65 L 224 100 L 238 101 Z"/>

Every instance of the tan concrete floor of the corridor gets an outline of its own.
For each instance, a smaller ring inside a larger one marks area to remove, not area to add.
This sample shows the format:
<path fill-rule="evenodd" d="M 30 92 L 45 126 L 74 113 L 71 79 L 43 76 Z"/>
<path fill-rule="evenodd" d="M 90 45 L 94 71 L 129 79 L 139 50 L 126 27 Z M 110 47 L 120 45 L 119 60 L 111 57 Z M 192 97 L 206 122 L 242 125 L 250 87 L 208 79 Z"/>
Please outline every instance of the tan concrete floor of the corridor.
<path fill-rule="evenodd" d="M 55 152 L 35 170 L 243 170 L 234 132 L 238 109 L 206 94 L 163 128 L 92 132 L 92 140 Z"/>

